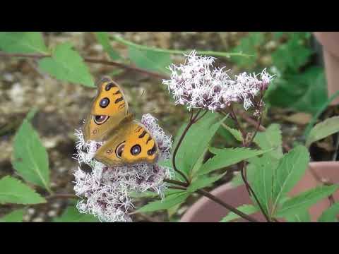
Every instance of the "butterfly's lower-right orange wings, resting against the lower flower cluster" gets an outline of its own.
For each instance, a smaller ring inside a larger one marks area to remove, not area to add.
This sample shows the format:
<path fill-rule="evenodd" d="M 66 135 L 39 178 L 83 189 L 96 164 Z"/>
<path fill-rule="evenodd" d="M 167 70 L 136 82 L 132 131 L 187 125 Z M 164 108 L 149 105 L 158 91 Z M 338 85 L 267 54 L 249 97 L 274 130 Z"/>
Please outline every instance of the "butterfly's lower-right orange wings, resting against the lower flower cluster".
<path fill-rule="evenodd" d="M 143 124 L 131 121 L 121 126 L 97 150 L 95 159 L 109 167 L 141 162 L 154 163 L 159 149 L 155 139 Z"/>

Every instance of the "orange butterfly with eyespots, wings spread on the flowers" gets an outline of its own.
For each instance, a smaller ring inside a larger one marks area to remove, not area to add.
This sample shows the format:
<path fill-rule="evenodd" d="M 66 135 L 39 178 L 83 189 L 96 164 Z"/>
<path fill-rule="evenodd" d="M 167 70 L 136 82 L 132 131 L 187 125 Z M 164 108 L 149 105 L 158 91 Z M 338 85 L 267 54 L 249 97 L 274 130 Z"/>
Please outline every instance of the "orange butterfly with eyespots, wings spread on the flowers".
<path fill-rule="evenodd" d="M 121 87 L 109 77 L 101 78 L 96 85 L 97 95 L 83 126 L 85 142 L 105 142 L 94 158 L 109 167 L 156 162 L 157 142 L 129 112 Z"/>

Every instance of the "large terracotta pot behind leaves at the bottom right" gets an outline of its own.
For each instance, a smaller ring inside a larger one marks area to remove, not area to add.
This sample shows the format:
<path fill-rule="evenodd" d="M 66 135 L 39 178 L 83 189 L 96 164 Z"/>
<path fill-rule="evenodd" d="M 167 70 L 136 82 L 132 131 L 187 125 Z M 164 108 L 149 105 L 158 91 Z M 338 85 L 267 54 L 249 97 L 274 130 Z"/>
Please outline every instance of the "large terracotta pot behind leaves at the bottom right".
<path fill-rule="evenodd" d="M 339 162 L 311 162 L 309 167 L 322 179 L 329 180 L 333 183 L 339 183 Z M 290 196 L 297 195 L 311 188 L 321 185 L 319 181 L 316 181 L 314 175 L 311 174 L 310 169 L 306 171 L 306 174 L 299 183 L 290 192 Z M 251 199 L 244 186 L 232 187 L 231 183 L 227 183 L 223 186 L 216 188 L 212 191 L 213 195 L 224 200 L 233 207 L 239 207 L 244 204 L 251 204 Z M 333 195 L 336 201 L 339 200 L 339 191 L 336 191 Z M 325 198 L 315 205 L 313 205 L 309 212 L 311 214 L 311 221 L 316 222 L 321 213 L 326 210 L 330 205 L 328 198 Z M 228 211 L 224 207 L 218 205 L 208 198 L 200 198 L 189 210 L 186 211 L 180 222 L 219 222 L 222 217 Z M 253 216 L 261 222 L 265 222 L 264 217 L 260 212 L 253 214 Z M 238 219 L 237 222 L 246 222 L 244 219 Z"/>

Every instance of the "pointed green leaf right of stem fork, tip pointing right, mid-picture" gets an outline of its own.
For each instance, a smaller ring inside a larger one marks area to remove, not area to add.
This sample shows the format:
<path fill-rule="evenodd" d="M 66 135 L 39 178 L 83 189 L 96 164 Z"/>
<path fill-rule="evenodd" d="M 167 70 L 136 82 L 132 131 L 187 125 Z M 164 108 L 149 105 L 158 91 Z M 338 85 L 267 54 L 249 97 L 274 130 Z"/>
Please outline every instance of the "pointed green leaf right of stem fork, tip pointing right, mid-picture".
<path fill-rule="evenodd" d="M 223 169 L 233 164 L 242 162 L 245 159 L 249 159 L 258 155 L 263 155 L 265 152 L 268 151 L 270 150 L 251 150 L 244 147 L 223 149 L 210 147 L 210 152 L 212 152 L 215 156 L 208 159 L 208 161 L 203 164 L 203 167 L 201 167 L 201 169 L 198 171 L 198 174 L 208 174 L 217 169 Z"/>

